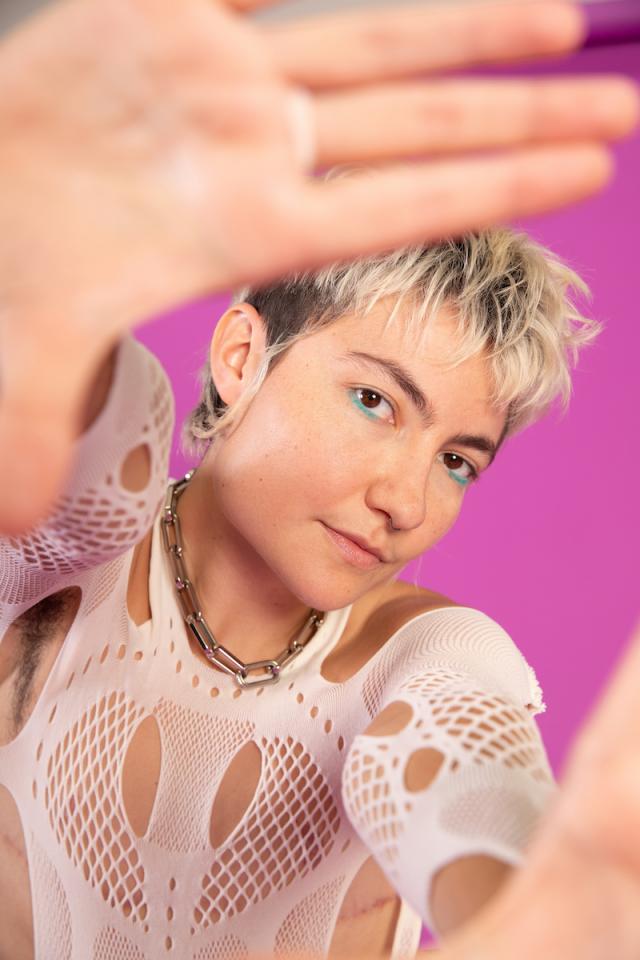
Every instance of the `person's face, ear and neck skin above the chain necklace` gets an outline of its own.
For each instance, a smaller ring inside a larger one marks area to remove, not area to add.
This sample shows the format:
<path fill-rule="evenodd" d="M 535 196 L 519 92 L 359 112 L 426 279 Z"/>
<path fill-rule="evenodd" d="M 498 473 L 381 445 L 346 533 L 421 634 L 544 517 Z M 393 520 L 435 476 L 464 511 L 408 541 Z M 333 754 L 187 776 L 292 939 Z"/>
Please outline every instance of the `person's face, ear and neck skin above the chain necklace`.
<path fill-rule="evenodd" d="M 451 438 L 499 442 L 505 412 L 491 403 L 486 358 L 444 365 L 457 343 L 453 312 L 434 316 L 418 344 L 402 311 L 385 323 L 390 309 L 383 301 L 366 320 L 346 316 L 294 344 L 181 497 L 187 565 L 205 616 L 245 660 L 280 652 L 310 607 L 338 609 L 393 581 L 455 523 L 465 496 L 456 475 L 469 472 L 467 462 L 478 473 L 489 465 L 486 452 Z M 251 383 L 263 351 L 255 309 L 227 311 L 211 364 L 228 404 Z M 432 423 L 388 375 L 341 359 L 347 351 L 407 368 L 431 402 Z M 359 387 L 377 391 L 363 395 L 369 408 Z M 370 570 L 348 564 L 325 525 L 366 538 L 385 561 Z"/>

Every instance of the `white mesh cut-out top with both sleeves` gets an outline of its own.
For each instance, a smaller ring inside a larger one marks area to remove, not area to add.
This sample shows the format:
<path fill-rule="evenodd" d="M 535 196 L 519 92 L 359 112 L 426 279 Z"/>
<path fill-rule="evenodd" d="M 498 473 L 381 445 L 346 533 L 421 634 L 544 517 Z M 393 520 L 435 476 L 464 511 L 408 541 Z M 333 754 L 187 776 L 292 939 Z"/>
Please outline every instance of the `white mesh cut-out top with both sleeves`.
<path fill-rule="evenodd" d="M 452 607 L 415 617 L 332 683 L 320 668 L 346 608 L 327 615 L 278 684 L 240 691 L 186 643 L 159 532 L 172 427 L 161 366 L 127 338 L 55 513 L 0 542 L 0 636 L 43 597 L 82 591 L 37 705 L 0 747 L 0 784 L 24 829 L 37 960 L 326 953 L 371 854 L 433 929 L 437 870 L 472 853 L 519 863 L 555 792 L 531 669 L 490 618 Z M 141 443 L 151 479 L 132 493 L 119 468 Z M 152 524 L 152 618 L 136 626 L 129 570 Z M 392 701 L 411 707 L 410 721 L 392 736 L 366 735 Z M 139 835 L 122 771 L 150 718 L 161 766 Z M 255 793 L 216 840 L 217 790 L 249 743 L 260 755 Z M 444 760 L 428 788 L 411 792 L 404 770 L 425 747 Z M 411 910 L 400 917 L 394 953 L 411 956 L 419 924 Z"/>

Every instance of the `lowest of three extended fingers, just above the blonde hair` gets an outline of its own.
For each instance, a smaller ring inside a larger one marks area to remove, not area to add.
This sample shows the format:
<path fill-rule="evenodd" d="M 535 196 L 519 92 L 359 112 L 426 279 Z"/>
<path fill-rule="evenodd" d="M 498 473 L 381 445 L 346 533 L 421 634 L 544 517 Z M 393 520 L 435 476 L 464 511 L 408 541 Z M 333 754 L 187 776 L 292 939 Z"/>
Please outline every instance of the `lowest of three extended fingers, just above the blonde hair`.
<path fill-rule="evenodd" d="M 573 203 L 610 173 L 603 147 L 580 144 L 306 181 L 286 210 L 278 208 L 271 254 L 285 272 L 426 243 Z"/>

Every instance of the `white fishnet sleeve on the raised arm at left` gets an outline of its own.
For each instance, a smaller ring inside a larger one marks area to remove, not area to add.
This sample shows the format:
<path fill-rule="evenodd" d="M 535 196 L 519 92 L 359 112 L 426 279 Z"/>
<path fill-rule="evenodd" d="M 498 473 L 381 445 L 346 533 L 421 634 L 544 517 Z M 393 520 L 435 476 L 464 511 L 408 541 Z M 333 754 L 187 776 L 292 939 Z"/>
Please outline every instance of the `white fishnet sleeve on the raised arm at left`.
<path fill-rule="evenodd" d="M 0 539 L 0 636 L 2 626 L 27 607 L 142 539 L 166 484 L 173 420 L 173 395 L 161 364 L 126 337 L 106 403 L 77 441 L 72 475 L 51 516 L 27 535 Z M 149 479 L 133 492 L 122 485 L 121 468 L 144 444 Z"/>

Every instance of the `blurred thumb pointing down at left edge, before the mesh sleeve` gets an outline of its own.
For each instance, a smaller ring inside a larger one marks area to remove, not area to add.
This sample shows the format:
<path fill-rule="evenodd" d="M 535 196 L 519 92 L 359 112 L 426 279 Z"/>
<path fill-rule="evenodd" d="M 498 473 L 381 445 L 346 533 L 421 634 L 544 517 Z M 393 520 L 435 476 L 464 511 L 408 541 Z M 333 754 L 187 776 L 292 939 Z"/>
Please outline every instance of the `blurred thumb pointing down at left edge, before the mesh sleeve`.
<path fill-rule="evenodd" d="M 46 331 L 19 331 L 2 349 L 0 534 L 18 535 L 44 519 L 63 489 L 93 368 L 70 362 L 67 346 Z"/>

